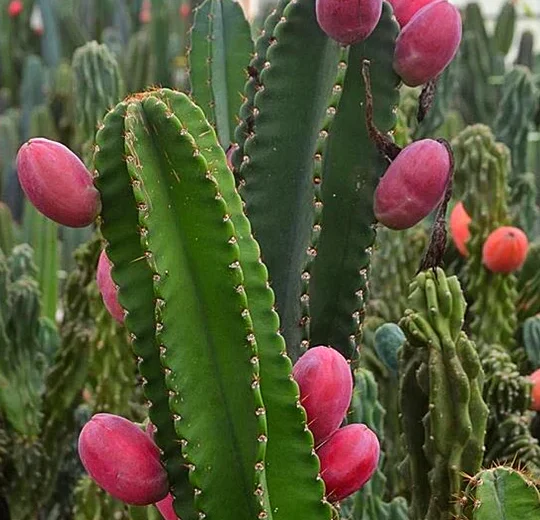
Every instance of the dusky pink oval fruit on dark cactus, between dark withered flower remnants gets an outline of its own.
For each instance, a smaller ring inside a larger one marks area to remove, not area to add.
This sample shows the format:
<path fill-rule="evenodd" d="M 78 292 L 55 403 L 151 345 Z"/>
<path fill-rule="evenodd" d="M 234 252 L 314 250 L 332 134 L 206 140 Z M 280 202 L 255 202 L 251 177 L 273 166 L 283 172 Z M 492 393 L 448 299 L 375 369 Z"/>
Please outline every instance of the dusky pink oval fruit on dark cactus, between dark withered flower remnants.
<path fill-rule="evenodd" d="M 432 139 L 416 141 L 394 159 L 375 190 L 377 220 L 390 229 L 408 229 L 441 202 L 450 174 L 446 147 Z"/>

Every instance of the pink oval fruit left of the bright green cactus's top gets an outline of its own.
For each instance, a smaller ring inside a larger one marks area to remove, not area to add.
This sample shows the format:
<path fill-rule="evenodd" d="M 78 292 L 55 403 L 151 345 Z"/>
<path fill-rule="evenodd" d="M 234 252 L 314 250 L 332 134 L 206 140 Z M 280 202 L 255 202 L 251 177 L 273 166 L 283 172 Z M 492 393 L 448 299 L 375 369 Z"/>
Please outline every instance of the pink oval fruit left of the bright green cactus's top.
<path fill-rule="evenodd" d="M 38 211 L 69 227 L 85 227 L 101 209 L 92 174 L 63 144 L 30 139 L 17 154 L 19 181 Z"/>

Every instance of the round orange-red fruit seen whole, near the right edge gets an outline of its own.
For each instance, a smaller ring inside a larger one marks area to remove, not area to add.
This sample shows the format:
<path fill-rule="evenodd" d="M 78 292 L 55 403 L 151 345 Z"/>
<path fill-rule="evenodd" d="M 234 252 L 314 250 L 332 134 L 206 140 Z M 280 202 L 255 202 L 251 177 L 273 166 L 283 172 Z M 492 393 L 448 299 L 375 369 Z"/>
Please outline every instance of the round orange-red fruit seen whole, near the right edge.
<path fill-rule="evenodd" d="M 502 226 L 484 242 L 482 263 L 494 273 L 512 273 L 523 265 L 528 249 L 527 235 L 521 229 Z"/>

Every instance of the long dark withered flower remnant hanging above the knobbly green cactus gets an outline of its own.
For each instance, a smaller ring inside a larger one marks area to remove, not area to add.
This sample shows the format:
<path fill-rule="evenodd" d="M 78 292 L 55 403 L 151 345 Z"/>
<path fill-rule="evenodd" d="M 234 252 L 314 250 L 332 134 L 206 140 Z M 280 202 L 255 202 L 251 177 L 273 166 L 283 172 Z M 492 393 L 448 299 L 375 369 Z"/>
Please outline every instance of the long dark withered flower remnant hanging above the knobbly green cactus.
<path fill-rule="evenodd" d="M 446 212 L 448 210 L 448 203 L 452 198 L 452 187 L 454 184 L 454 152 L 450 146 L 450 143 L 445 139 L 437 139 L 437 142 L 441 143 L 448 151 L 448 156 L 450 158 L 450 171 L 448 174 L 448 183 L 446 184 L 444 197 L 437 209 L 435 222 L 431 228 L 429 244 L 424 256 L 422 257 L 422 261 L 420 262 L 418 272 L 427 271 L 428 269 L 435 270 L 437 267 L 441 267 L 443 264 L 444 251 L 446 249 Z"/>

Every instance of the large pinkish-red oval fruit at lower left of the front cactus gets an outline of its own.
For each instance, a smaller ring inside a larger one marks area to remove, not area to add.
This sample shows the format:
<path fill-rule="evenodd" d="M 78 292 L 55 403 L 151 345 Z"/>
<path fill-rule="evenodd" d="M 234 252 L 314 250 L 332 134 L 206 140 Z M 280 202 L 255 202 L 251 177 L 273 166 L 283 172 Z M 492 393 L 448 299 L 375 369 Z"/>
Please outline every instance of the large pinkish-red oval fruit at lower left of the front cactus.
<path fill-rule="evenodd" d="M 123 417 L 94 415 L 79 436 L 79 456 L 96 484 L 126 504 L 154 504 L 169 492 L 158 447 Z"/>

